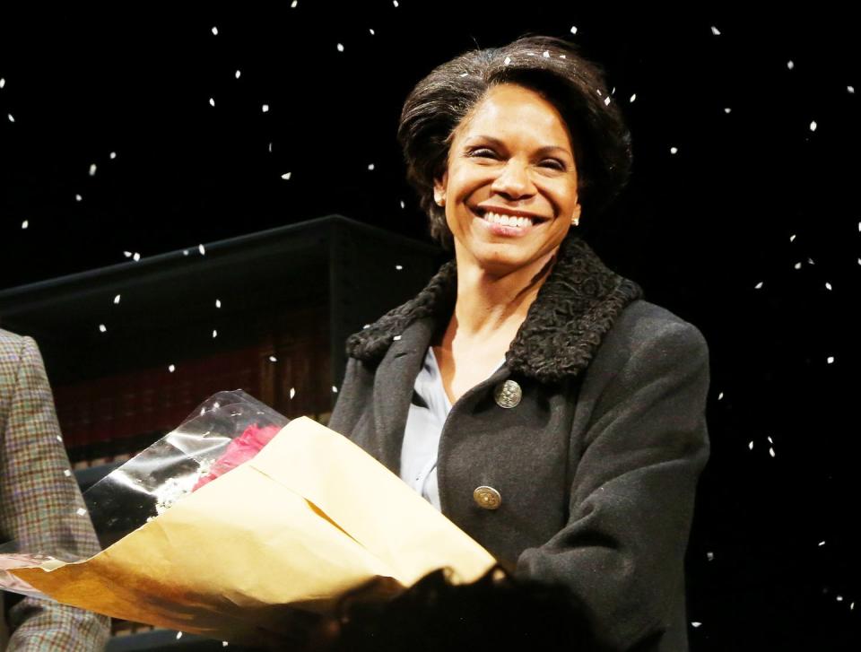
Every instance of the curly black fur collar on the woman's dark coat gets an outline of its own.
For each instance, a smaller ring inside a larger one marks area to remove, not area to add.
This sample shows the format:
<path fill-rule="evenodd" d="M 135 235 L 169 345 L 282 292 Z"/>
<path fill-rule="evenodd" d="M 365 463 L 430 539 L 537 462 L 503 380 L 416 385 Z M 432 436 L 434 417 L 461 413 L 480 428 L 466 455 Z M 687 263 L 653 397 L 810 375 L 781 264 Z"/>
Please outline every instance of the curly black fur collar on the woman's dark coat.
<path fill-rule="evenodd" d="M 622 309 L 642 296 L 637 283 L 608 269 L 585 241 L 570 236 L 505 354 L 509 369 L 543 383 L 577 376 Z M 415 320 L 433 317 L 438 326 L 448 320 L 456 298 L 457 266 L 451 260 L 413 300 L 351 335 L 347 354 L 381 360 Z"/>

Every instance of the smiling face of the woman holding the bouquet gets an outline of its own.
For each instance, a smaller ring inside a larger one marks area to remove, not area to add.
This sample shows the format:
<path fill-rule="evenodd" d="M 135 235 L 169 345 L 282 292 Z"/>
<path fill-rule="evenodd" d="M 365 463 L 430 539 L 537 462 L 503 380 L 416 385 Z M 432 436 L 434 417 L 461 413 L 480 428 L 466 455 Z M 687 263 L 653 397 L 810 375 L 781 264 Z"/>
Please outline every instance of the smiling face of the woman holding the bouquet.
<path fill-rule="evenodd" d="M 493 86 L 457 126 L 434 195 L 445 202 L 458 265 L 494 275 L 540 269 L 580 214 L 559 111 L 523 86 Z"/>

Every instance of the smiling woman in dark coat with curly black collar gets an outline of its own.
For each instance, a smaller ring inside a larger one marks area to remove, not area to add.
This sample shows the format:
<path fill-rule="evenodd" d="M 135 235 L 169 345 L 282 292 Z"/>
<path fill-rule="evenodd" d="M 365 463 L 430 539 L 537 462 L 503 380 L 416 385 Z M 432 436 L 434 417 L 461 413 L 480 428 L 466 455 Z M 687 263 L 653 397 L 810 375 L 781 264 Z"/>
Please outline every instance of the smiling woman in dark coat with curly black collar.
<path fill-rule="evenodd" d="M 415 87 L 398 136 L 455 260 L 348 339 L 330 427 L 517 574 L 570 587 L 604 645 L 685 649 L 709 354 L 578 238 L 631 163 L 602 74 L 560 39 L 469 52 Z"/>

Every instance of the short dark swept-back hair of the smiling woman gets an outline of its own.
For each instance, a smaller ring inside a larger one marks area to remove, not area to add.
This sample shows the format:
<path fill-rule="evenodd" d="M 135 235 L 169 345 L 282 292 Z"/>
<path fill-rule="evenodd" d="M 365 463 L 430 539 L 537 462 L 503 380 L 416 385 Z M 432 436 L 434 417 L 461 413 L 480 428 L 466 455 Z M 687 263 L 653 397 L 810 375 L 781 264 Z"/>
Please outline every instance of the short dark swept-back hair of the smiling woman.
<path fill-rule="evenodd" d="M 439 65 L 404 101 L 397 140 L 407 180 L 431 222 L 431 236 L 447 249 L 453 238 L 433 181 L 446 170 L 455 129 L 492 86 L 516 83 L 538 92 L 569 128 L 584 215 L 612 204 L 631 173 L 631 135 L 604 82 L 604 70 L 568 41 L 526 36 L 502 48 L 474 49 Z"/>

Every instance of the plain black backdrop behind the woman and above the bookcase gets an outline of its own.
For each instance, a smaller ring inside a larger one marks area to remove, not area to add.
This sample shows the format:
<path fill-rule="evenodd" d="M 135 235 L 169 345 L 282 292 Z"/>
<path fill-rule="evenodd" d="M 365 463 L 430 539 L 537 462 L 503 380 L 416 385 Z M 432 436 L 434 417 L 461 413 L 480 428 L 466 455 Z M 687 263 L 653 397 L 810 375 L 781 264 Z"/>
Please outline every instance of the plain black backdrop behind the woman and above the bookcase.
<path fill-rule="evenodd" d="M 395 139 L 413 84 L 476 44 L 571 39 L 604 65 L 635 154 L 626 195 L 583 215 L 584 235 L 709 341 L 691 648 L 857 649 L 848 16 L 347 6 L 4 13 L 0 289 L 330 213 L 426 238 Z"/>

